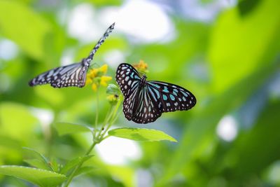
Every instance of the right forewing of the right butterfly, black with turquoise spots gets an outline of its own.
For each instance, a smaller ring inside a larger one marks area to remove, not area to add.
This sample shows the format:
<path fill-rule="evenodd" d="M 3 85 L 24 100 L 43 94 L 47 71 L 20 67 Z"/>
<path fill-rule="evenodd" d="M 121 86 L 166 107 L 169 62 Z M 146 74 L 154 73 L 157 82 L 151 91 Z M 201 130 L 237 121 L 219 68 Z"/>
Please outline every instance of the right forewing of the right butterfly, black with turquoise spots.
<path fill-rule="evenodd" d="M 195 96 L 185 88 L 172 83 L 147 81 L 148 91 L 161 112 L 187 111 L 195 106 Z"/>

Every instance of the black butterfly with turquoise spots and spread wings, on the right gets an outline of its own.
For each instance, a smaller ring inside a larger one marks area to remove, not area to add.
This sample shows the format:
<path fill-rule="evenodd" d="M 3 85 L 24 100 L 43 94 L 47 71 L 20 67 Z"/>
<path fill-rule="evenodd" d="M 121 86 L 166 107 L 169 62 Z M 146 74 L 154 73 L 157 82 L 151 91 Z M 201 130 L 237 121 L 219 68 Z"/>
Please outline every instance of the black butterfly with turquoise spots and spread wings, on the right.
<path fill-rule="evenodd" d="M 195 96 L 185 88 L 161 81 L 146 81 L 130 64 L 120 64 L 116 72 L 125 100 L 123 113 L 127 120 L 151 123 L 163 112 L 187 111 L 195 106 Z"/>

